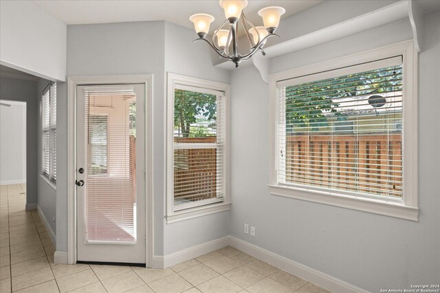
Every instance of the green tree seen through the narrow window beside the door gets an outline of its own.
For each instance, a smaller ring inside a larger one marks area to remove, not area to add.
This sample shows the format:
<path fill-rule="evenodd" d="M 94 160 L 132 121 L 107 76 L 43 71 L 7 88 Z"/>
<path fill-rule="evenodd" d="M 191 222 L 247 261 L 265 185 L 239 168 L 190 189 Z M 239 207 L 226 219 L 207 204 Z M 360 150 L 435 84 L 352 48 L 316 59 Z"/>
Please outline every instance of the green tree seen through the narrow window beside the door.
<path fill-rule="evenodd" d="M 190 137 L 191 124 L 197 122 L 197 116 L 203 115 L 208 121 L 217 119 L 217 96 L 193 91 L 176 89 L 174 93 L 174 126 L 182 137 Z M 194 128 L 194 127 L 193 127 Z M 208 136 L 206 129 L 196 131 Z M 195 133 L 196 133 L 195 132 Z"/>

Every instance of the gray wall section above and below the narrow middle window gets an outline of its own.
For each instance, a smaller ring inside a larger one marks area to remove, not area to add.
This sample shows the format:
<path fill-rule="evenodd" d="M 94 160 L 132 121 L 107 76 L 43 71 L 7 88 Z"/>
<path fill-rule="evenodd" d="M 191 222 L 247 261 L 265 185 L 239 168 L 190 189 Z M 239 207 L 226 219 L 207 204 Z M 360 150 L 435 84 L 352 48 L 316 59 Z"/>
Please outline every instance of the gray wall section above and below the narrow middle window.
<path fill-rule="evenodd" d="M 194 30 L 188 30 L 186 27 L 173 23 L 165 23 L 165 71 L 229 83 L 229 71 L 211 66 L 212 60 L 208 44 L 202 42 L 192 44 L 192 40 L 196 37 Z M 163 99 L 165 102 L 165 97 Z M 166 114 L 165 112 L 162 113 Z M 163 150 L 165 150 L 165 145 Z M 155 184 L 157 183 L 155 182 Z M 159 211 L 163 210 L 164 208 Z M 157 210 L 155 213 L 157 213 Z M 162 215 L 161 221 L 164 222 L 164 255 L 228 235 L 228 218 L 229 211 L 225 211 L 173 224 L 165 224 Z"/>

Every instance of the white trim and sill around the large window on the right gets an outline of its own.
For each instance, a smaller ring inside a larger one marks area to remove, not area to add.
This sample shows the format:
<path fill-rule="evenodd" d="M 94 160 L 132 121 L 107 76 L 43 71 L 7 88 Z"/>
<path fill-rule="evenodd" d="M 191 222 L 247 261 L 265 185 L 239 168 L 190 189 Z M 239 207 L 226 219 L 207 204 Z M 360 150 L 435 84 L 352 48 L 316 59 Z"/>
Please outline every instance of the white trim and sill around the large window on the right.
<path fill-rule="evenodd" d="M 373 198 L 355 198 L 332 191 L 286 187 L 277 182 L 277 82 L 322 71 L 333 71 L 364 62 L 402 55 L 404 63 L 404 200 L 402 203 L 386 202 Z M 380 47 L 369 51 L 320 62 L 305 67 L 274 73 L 270 75 L 270 194 L 329 204 L 336 207 L 388 215 L 395 218 L 418 221 L 418 159 L 417 159 L 417 86 L 418 56 L 412 40 Z M 330 195 L 331 194 L 331 195 Z"/>

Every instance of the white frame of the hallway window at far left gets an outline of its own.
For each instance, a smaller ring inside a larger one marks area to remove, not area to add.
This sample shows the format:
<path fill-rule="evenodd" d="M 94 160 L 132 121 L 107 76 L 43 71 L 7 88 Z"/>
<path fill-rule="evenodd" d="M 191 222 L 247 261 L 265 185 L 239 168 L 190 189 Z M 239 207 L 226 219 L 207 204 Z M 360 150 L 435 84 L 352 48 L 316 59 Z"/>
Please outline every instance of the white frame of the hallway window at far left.
<path fill-rule="evenodd" d="M 55 91 L 54 91 L 55 87 Z M 49 106 L 47 107 L 49 111 L 49 121 L 47 127 L 45 127 L 45 93 L 49 93 L 49 99 L 48 103 Z M 48 180 L 52 185 L 56 185 L 56 82 L 49 82 L 45 88 L 43 89 L 41 93 L 41 176 Z M 55 106 L 54 106 L 55 105 Z M 55 117 L 53 117 L 53 113 L 55 113 Z M 55 118 L 55 123 L 52 122 L 52 119 Z M 43 160 L 45 158 L 45 150 L 43 148 L 43 141 L 45 139 L 45 134 L 49 135 L 49 145 L 47 149 L 47 156 L 48 156 L 48 165 L 47 165 L 47 172 L 44 169 Z M 53 139 L 54 138 L 54 139 Z"/>

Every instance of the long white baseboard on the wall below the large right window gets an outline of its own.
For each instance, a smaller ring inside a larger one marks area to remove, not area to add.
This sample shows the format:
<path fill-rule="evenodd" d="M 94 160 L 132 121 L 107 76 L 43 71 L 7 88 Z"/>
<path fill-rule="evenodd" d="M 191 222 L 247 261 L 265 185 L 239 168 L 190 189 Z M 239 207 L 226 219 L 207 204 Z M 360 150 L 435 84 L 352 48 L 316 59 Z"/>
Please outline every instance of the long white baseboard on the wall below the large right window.
<path fill-rule="evenodd" d="M 336 279 L 335 277 L 331 277 L 329 274 L 309 268 L 308 266 L 304 266 L 301 263 L 297 263 L 296 261 L 292 261 L 291 259 L 277 255 L 276 253 L 272 253 L 269 250 L 265 250 L 264 248 L 250 244 L 249 242 L 245 242 L 239 238 L 229 236 L 229 245 L 243 251 L 243 253 L 248 253 L 248 255 L 252 255 L 257 259 L 270 263 L 272 266 L 281 268 L 281 270 L 285 270 L 286 272 L 310 281 L 311 283 L 315 283 L 316 285 L 330 290 L 331 292 L 368 292 L 356 287 L 355 285 L 351 285 L 350 283 Z"/>

